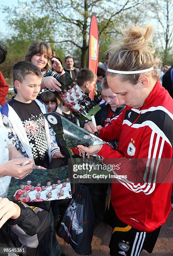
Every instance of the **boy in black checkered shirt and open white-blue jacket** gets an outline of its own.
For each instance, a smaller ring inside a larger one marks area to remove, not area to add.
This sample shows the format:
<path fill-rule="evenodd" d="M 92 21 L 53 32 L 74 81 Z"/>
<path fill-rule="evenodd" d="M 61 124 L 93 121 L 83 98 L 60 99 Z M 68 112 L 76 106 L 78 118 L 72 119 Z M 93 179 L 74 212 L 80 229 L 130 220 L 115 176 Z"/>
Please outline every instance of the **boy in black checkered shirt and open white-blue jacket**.
<path fill-rule="evenodd" d="M 43 116 L 46 106 L 36 100 L 40 92 L 42 73 L 28 61 L 13 66 L 13 82 L 17 95 L 8 101 L 1 113 L 8 137 L 25 157 L 33 158 L 37 166 L 48 167 L 52 158 L 64 158 L 55 135 Z"/>

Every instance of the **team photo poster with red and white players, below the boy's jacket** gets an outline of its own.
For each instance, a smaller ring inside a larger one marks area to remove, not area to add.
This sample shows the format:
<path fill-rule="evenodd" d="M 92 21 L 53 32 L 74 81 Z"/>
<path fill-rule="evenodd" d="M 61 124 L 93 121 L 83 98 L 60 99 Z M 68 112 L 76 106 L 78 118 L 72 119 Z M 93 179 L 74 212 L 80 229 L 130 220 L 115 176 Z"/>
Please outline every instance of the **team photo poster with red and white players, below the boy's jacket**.
<path fill-rule="evenodd" d="M 24 179 L 11 178 L 7 198 L 11 201 L 42 202 L 71 198 L 69 167 L 33 169 Z"/>

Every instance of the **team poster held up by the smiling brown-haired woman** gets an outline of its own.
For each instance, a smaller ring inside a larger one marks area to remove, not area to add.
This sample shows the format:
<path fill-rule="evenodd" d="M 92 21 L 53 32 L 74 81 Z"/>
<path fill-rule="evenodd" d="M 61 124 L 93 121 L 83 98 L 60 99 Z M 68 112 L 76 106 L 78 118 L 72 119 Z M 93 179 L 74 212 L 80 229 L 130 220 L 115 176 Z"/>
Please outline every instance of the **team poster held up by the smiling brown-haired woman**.
<path fill-rule="evenodd" d="M 59 96 L 65 106 L 79 119 L 91 120 L 91 115 L 95 115 L 100 110 L 100 106 L 81 91 L 68 73 L 60 76 L 58 81 L 61 84 Z"/>

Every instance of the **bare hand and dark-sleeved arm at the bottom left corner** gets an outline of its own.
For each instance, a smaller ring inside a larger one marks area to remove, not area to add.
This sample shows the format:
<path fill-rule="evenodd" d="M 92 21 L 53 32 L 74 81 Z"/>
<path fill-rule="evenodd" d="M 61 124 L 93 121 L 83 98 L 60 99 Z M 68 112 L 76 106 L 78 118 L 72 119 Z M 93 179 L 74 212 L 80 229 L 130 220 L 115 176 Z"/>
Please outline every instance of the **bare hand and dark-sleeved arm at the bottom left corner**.
<path fill-rule="evenodd" d="M 50 215 L 41 208 L 0 198 L 0 228 L 3 224 L 10 225 L 25 247 L 36 248 L 50 225 Z M 31 236 L 36 236 L 32 244 Z"/>

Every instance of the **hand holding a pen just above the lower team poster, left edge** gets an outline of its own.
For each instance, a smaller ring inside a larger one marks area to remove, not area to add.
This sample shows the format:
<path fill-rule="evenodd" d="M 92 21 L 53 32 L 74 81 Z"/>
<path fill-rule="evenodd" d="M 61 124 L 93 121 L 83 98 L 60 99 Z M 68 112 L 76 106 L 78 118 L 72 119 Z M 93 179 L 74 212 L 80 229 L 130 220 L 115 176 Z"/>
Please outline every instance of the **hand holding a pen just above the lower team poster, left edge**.
<path fill-rule="evenodd" d="M 29 161 L 28 164 L 21 166 L 25 161 Z M 22 158 L 13 159 L 7 161 L 5 164 L 0 165 L 0 177 L 11 176 L 19 179 L 23 179 L 33 171 L 33 159 Z"/>

